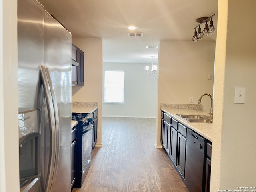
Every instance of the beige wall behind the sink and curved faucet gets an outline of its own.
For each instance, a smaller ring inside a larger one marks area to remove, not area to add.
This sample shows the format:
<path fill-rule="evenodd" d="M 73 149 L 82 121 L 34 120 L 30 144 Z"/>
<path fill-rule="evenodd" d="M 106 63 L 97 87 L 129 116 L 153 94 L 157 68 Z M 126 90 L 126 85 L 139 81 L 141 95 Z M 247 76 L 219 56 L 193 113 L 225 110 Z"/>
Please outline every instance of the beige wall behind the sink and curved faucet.
<path fill-rule="evenodd" d="M 215 42 L 161 40 L 159 47 L 157 146 L 161 145 L 161 103 L 198 104 L 203 93 L 212 95 Z M 210 112 L 210 97 L 204 97 L 201 104 Z"/>

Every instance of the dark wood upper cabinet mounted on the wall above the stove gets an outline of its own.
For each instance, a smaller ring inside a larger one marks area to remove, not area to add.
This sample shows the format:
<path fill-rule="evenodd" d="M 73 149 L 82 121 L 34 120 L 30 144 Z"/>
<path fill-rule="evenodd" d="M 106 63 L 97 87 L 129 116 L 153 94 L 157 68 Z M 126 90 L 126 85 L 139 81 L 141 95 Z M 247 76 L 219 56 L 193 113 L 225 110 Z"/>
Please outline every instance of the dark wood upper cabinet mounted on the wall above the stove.
<path fill-rule="evenodd" d="M 72 86 L 84 86 L 84 52 L 74 44 L 72 44 L 71 58 Z"/>

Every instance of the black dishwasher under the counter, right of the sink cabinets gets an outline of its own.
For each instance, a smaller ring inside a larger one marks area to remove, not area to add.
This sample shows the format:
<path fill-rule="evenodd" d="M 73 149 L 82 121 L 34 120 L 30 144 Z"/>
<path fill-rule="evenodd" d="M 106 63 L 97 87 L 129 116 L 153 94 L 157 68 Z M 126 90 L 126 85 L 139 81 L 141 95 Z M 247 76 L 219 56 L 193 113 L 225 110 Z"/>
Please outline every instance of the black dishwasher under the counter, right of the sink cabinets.
<path fill-rule="evenodd" d="M 187 130 L 185 184 L 189 192 L 202 192 L 205 140 Z"/>

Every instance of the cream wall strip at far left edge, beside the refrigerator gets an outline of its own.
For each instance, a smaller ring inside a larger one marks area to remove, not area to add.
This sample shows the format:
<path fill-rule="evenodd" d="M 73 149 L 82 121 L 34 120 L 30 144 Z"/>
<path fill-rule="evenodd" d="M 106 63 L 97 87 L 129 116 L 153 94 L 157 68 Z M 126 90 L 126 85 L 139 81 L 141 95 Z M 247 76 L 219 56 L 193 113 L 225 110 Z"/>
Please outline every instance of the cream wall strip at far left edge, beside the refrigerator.
<path fill-rule="evenodd" d="M 17 1 L 0 0 L 0 191 L 20 191 Z"/>

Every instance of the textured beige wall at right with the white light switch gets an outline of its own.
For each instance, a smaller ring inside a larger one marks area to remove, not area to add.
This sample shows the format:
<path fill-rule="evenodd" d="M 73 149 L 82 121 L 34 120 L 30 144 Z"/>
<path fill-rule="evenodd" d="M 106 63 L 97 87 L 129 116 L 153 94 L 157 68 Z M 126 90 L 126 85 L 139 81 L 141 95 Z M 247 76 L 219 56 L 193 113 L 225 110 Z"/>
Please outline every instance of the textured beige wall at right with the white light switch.
<path fill-rule="evenodd" d="M 255 7 L 219 0 L 211 191 L 256 184 Z M 245 104 L 234 104 L 235 87 L 246 88 Z"/>

